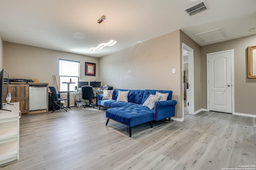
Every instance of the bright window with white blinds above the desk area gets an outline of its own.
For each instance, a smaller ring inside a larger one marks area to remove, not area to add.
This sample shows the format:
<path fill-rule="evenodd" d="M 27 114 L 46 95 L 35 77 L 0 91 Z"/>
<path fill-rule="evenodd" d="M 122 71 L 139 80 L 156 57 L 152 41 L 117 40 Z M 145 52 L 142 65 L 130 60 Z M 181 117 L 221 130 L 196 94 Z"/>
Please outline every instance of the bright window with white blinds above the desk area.
<path fill-rule="evenodd" d="M 75 84 L 70 84 L 69 90 L 74 91 L 75 86 L 77 86 L 77 82 L 80 78 L 80 62 L 72 61 L 72 60 L 64 60 L 59 59 L 59 75 L 60 75 L 60 92 L 67 92 L 68 85 L 62 84 L 62 82 L 70 82 L 70 78 L 72 82 Z"/>

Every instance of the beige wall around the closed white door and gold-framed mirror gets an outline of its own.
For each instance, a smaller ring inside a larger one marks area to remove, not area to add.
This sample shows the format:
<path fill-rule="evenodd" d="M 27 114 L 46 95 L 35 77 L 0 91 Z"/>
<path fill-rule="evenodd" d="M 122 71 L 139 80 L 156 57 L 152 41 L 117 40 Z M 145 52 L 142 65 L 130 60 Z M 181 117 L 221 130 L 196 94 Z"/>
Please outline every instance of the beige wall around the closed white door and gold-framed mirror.
<path fill-rule="evenodd" d="M 206 54 L 234 49 L 235 112 L 256 115 L 256 78 L 247 78 L 247 47 L 256 45 L 256 35 L 202 46 L 202 108 L 207 108 Z"/>

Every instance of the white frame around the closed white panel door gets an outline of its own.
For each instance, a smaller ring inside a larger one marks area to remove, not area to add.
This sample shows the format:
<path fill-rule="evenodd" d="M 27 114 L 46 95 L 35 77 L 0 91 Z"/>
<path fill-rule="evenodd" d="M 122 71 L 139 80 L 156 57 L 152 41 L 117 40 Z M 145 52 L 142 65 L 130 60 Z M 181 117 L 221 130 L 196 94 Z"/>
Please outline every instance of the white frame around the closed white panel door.
<path fill-rule="evenodd" d="M 224 51 L 217 51 L 217 52 L 214 52 L 214 53 L 207 53 L 206 54 L 206 63 L 207 63 L 207 111 L 210 111 L 210 99 L 209 99 L 209 96 L 210 96 L 210 89 L 209 89 L 209 55 L 212 55 L 212 54 L 218 54 L 218 53 L 225 53 L 225 52 L 231 52 L 231 82 L 232 82 L 232 85 L 231 85 L 231 94 L 232 94 L 232 114 L 235 113 L 235 98 L 234 98 L 234 49 L 230 49 L 230 50 L 224 50 Z"/>

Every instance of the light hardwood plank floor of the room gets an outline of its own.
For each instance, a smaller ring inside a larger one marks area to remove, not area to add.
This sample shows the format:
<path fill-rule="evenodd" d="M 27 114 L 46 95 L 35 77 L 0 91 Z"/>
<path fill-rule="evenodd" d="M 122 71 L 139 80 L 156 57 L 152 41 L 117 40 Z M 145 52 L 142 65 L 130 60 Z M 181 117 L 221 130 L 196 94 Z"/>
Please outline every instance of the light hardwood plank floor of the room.
<path fill-rule="evenodd" d="M 256 119 L 202 111 L 132 128 L 72 107 L 20 119 L 20 159 L 0 170 L 222 170 L 256 165 Z"/>

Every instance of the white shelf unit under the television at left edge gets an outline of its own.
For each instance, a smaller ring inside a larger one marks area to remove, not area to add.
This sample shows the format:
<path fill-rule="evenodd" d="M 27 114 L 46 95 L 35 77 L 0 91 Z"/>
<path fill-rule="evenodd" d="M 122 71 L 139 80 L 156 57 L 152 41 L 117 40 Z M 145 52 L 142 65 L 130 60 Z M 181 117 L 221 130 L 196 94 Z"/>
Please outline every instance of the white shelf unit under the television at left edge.
<path fill-rule="evenodd" d="M 20 104 L 12 104 L 0 110 L 0 164 L 19 159 Z"/>

